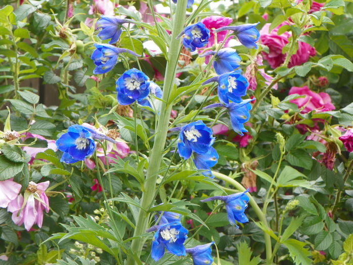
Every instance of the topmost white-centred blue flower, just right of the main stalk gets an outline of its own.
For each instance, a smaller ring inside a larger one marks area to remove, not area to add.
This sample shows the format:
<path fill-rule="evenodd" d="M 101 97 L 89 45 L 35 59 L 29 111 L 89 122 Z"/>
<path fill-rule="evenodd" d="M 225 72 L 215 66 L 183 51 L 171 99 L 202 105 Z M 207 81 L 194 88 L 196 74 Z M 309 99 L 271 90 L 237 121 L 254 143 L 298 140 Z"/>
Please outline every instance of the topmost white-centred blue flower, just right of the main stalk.
<path fill-rule="evenodd" d="M 178 37 L 183 34 L 183 44 L 191 51 L 205 46 L 208 43 L 208 38 L 210 37 L 209 30 L 201 22 L 187 26 Z"/>

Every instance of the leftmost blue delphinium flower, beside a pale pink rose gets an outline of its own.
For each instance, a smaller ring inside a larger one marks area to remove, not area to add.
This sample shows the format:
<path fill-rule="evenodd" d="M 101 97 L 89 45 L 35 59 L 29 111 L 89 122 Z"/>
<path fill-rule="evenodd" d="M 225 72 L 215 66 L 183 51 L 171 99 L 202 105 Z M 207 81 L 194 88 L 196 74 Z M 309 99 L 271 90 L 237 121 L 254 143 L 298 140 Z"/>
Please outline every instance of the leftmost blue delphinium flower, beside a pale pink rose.
<path fill-rule="evenodd" d="M 56 145 L 63 151 L 60 161 L 64 163 L 75 163 L 84 160 L 85 157 L 93 154 L 96 143 L 93 140 L 92 132 L 81 125 L 72 125 L 56 140 Z"/>

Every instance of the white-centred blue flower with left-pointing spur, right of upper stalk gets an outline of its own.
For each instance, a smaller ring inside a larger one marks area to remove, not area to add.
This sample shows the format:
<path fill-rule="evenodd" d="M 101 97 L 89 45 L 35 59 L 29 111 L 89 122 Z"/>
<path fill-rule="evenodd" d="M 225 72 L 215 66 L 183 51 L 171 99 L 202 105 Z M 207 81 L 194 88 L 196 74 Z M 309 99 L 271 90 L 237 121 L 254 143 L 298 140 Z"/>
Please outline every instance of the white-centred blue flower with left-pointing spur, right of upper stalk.
<path fill-rule="evenodd" d="M 212 77 L 203 82 L 203 85 L 211 82 L 218 82 L 219 101 L 226 105 L 229 103 L 229 100 L 240 103 L 242 101 L 241 96 L 246 95 L 246 90 L 249 85 L 246 78 L 241 75 L 240 69 Z"/>

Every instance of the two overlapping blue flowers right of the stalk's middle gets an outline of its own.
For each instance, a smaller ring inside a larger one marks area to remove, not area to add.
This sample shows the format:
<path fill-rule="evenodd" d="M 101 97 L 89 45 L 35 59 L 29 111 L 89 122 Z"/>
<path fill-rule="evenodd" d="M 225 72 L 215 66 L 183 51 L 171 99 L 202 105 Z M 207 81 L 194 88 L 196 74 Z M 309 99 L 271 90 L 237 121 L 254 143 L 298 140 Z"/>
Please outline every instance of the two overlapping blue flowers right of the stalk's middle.
<path fill-rule="evenodd" d="M 212 147 L 214 142 L 212 130 L 202 121 L 192 122 L 182 127 L 178 139 L 178 152 L 188 159 L 193 153 L 197 169 L 205 170 L 202 174 L 213 178 L 210 168 L 218 161 L 217 151 Z"/>

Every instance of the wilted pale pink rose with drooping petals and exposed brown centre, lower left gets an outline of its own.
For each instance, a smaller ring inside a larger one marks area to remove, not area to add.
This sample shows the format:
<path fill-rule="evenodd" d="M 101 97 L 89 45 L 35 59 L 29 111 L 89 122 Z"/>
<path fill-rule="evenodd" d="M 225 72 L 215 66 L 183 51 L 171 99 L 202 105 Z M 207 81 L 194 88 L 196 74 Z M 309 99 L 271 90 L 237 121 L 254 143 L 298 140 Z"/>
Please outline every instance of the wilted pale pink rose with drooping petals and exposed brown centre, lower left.
<path fill-rule="evenodd" d="M 24 224 L 29 231 L 34 224 L 40 228 L 43 224 L 43 210 L 49 212 L 49 199 L 45 193 L 49 187 L 49 181 L 34 183 L 30 181 L 25 191 L 24 201 L 22 194 L 9 203 L 8 211 L 12 213 L 12 221 L 18 226 Z M 23 206 L 24 204 L 24 206 Z M 22 209 L 21 209 L 22 208 Z"/>

